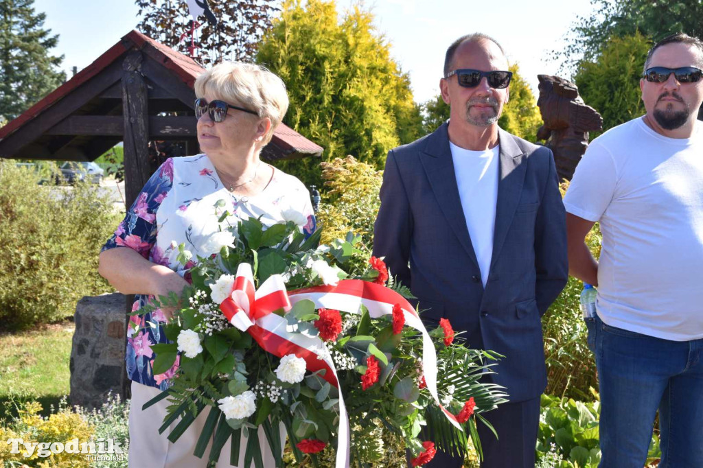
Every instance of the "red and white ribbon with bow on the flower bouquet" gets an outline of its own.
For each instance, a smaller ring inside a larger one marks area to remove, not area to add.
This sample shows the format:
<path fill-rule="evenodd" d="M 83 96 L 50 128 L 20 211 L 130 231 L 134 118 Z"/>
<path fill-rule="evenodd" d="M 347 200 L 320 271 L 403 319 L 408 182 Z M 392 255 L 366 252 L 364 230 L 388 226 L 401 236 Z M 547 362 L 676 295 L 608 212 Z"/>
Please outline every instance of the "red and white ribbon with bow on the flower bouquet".
<path fill-rule="evenodd" d="M 427 389 L 449 421 L 459 430 L 463 430 L 456 416 L 439 403 L 437 355 L 434 353 L 430 334 L 425 330 L 425 325 L 413 306 L 400 294 L 385 286 L 363 280 L 342 280 L 336 286 L 316 286 L 286 292 L 283 278 L 280 275 L 271 275 L 259 290 L 256 290 L 252 267 L 249 264 L 240 264 L 233 292 L 220 304 L 220 309 L 233 326 L 251 334 L 265 351 L 279 358 L 287 354 L 304 358 L 308 370 L 316 372 L 324 369 L 322 377 L 339 388 L 335 365 L 326 352 L 323 341 L 318 337 L 288 332 L 288 321 L 272 313 L 280 308 L 288 312 L 293 304 L 306 299 L 312 301 L 316 308 L 335 308 L 356 314 L 361 314 L 363 305 L 371 318 L 392 315 L 393 306 L 399 304 L 406 324 L 423 335 L 423 374 Z M 349 419 L 341 389 L 339 393 L 340 426 L 337 430 L 336 466 L 345 468 L 349 466 Z"/>

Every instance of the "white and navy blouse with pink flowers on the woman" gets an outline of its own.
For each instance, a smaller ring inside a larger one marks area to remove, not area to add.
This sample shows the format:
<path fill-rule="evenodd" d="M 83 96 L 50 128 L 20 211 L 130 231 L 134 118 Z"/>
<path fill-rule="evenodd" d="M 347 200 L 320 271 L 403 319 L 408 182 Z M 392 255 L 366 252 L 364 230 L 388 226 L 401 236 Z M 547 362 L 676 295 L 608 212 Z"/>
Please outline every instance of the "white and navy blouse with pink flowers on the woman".
<path fill-rule="evenodd" d="M 179 254 L 177 245 L 185 243 L 186 250 L 193 253 L 193 259 L 213 253 L 209 251 L 207 238 L 219 231 L 215 214 L 215 204 L 219 200 L 225 203 L 221 207 L 222 202 L 219 202 L 219 212 L 226 209 L 232 214 L 227 219 L 229 223 L 261 216 L 262 223 L 271 226 L 290 219 L 291 212 L 294 212 L 307 220 L 305 233 L 313 233 L 316 228 L 309 192 L 297 178 L 274 168 L 273 178 L 261 193 L 250 197 L 233 195 L 224 188 L 207 155 L 196 155 L 169 158 L 162 164 L 102 250 L 129 247 L 145 259 L 168 266 L 188 280 L 185 273 L 194 263 L 190 261 L 183 266 L 176 260 Z M 132 311 L 138 311 L 151 298 L 137 294 Z M 162 328 L 165 322 L 164 314 L 158 309 L 143 316 L 131 316 L 125 356 L 129 379 L 162 390 L 168 388 L 169 378 L 173 377 L 180 360 L 176 358 L 176 363 L 167 372 L 153 375 L 156 355 L 151 345 L 169 343 Z"/>

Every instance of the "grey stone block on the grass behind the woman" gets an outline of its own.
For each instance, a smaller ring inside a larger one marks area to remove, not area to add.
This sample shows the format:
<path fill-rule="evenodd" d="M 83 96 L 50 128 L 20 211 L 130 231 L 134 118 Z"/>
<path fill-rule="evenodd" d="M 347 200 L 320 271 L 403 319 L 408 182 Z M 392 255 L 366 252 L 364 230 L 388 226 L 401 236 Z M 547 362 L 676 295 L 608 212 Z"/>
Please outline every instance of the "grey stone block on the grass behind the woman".
<path fill-rule="evenodd" d="M 71 405 L 99 408 L 110 391 L 120 394 L 126 313 L 123 294 L 78 301 L 70 363 Z"/>

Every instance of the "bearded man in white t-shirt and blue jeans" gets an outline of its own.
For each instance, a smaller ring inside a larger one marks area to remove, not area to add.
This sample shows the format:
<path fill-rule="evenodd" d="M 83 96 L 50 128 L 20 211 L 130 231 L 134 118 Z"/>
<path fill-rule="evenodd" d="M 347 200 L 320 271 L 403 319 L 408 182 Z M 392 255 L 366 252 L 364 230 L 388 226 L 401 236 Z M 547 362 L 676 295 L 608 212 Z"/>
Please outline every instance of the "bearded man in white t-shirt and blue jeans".
<path fill-rule="evenodd" d="M 642 468 L 659 408 L 659 467 L 703 467 L 703 43 L 655 44 L 647 113 L 595 138 L 565 197 L 569 273 L 598 285 L 589 323 L 605 468 Z M 600 222 L 597 263 L 583 239 Z"/>

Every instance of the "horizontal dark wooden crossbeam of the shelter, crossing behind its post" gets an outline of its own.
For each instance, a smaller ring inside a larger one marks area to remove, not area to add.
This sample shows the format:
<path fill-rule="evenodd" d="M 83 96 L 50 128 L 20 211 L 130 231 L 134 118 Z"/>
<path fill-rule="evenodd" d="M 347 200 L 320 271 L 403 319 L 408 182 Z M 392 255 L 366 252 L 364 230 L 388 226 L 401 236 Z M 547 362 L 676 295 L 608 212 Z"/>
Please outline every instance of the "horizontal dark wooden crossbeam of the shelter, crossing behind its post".
<path fill-rule="evenodd" d="M 196 133 L 195 117 L 149 116 L 149 139 L 193 138 Z M 72 115 L 46 131 L 46 135 L 122 136 L 124 117 L 121 115 Z"/>

